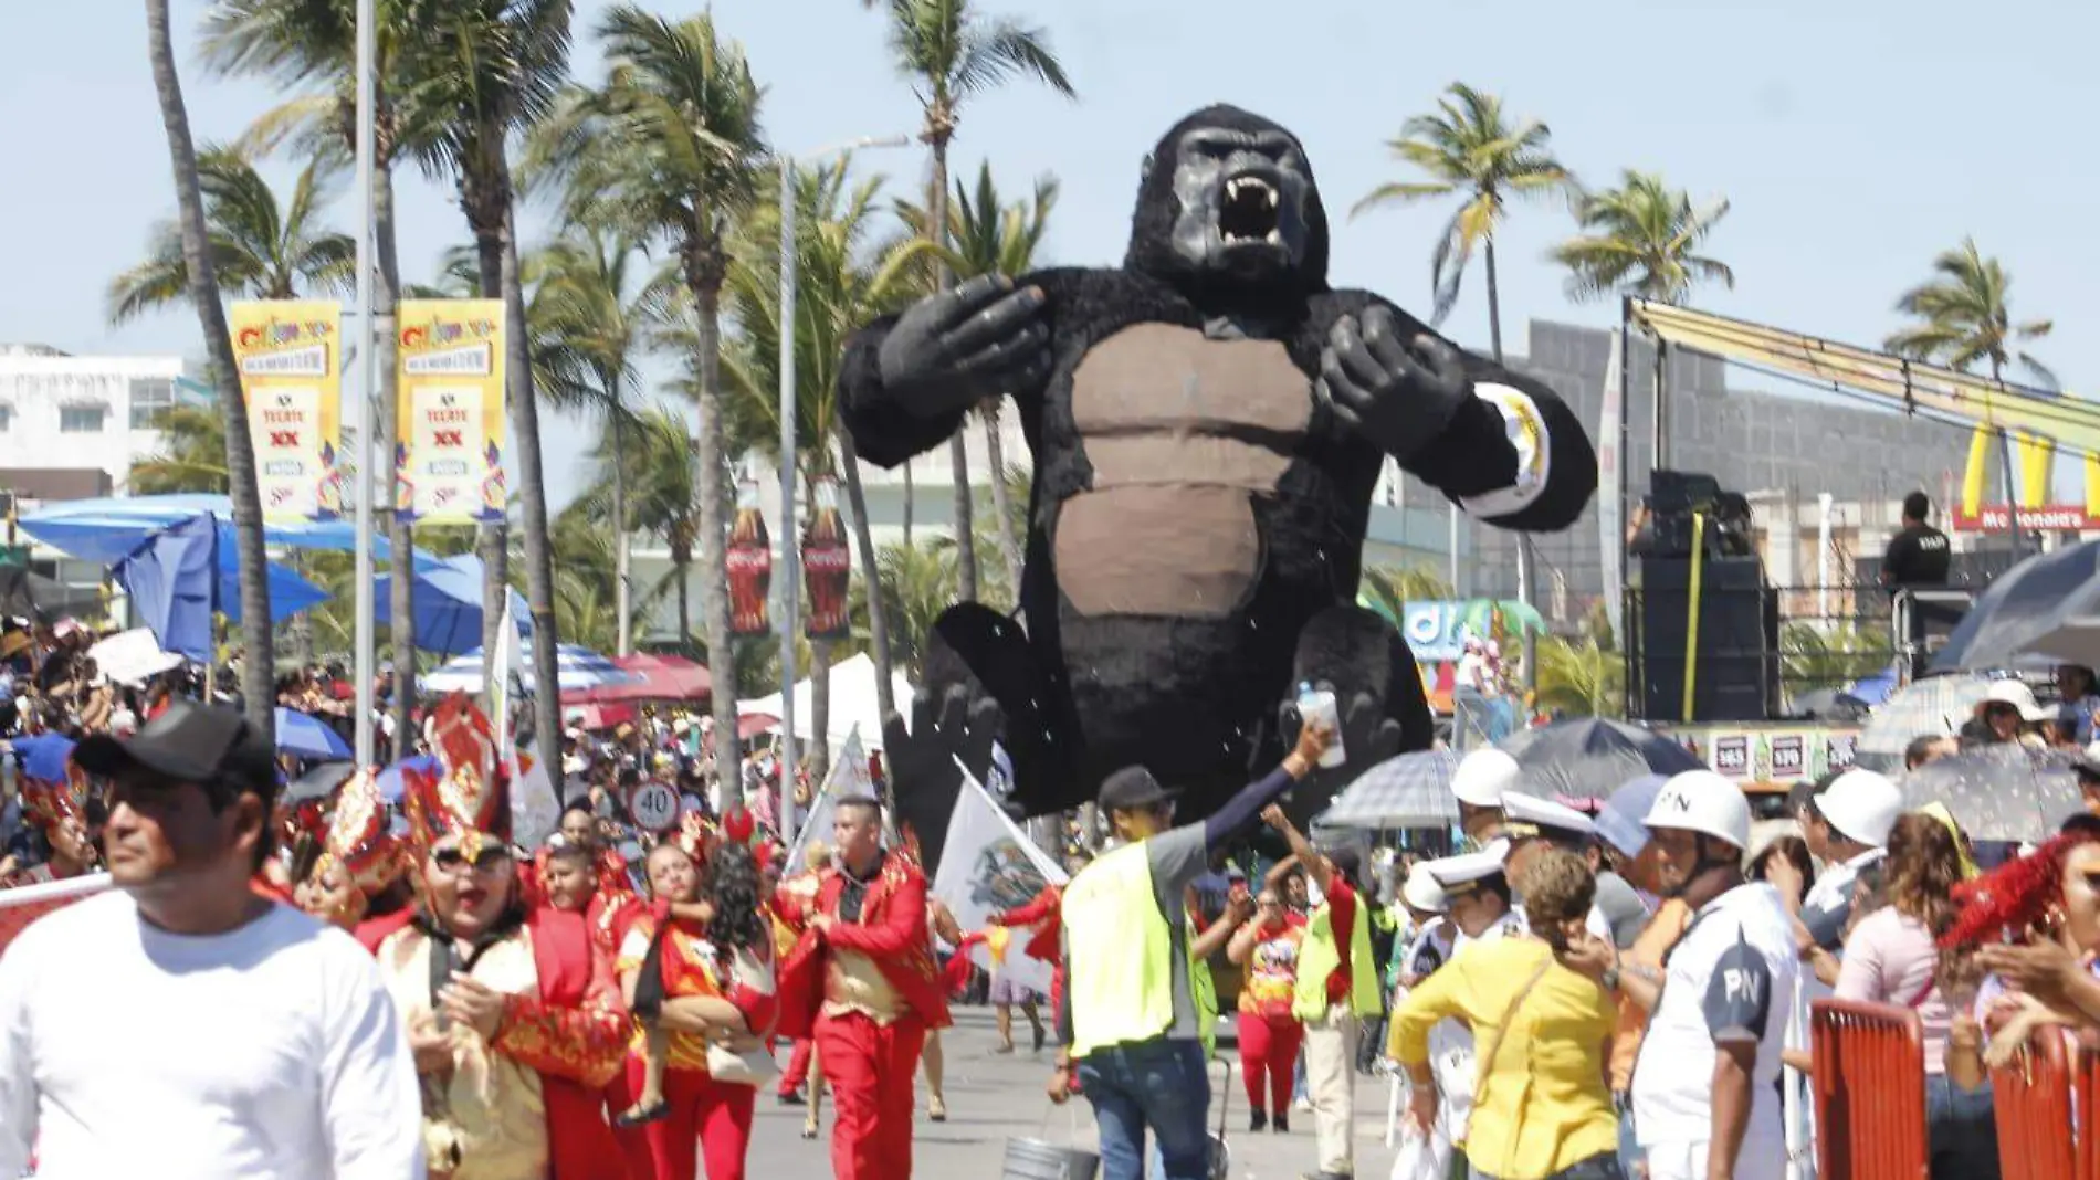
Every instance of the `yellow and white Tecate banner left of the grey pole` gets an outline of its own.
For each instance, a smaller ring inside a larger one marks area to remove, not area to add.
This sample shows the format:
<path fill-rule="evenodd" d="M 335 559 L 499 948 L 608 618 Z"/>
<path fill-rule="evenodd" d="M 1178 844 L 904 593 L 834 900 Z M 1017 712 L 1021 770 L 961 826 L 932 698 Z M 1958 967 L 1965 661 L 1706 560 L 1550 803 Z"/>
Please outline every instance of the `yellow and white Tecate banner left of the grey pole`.
<path fill-rule="evenodd" d="M 235 302 L 227 315 L 269 521 L 342 514 L 342 304 Z"/>

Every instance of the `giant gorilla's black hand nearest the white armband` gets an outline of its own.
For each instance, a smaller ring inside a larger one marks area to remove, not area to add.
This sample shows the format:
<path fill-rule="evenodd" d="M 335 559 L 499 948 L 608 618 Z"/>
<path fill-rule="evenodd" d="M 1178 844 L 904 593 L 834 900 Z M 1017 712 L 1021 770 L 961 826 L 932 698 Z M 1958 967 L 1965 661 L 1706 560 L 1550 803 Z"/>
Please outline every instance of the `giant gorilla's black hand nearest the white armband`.
<path fill-rule="evenodd" d="M 1317 388 L 1342 422 L 1405 460 L 1443 435 L 1472 378 L 1457 349 L 1426 334 L 1403 344 L 1392 313 L 1371 307 L 1327 332 Z"/>

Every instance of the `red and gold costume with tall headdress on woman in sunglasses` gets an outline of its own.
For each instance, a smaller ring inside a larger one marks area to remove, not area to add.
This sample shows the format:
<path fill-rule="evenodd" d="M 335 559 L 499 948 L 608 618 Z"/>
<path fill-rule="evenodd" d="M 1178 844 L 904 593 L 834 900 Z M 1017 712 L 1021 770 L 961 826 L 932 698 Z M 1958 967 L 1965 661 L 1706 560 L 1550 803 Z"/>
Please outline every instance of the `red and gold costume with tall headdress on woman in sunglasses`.
<path fill-rule="evenodd" d="M 439 775 L 410 775 L 405 813 L 426 852 L 460 838 L 468 857 L 508 842 L 508 783 L 487 720 L 454 695 L 437 714 Z M 626 1065 L 630 1023 L 611 962 L 575 913 L 527 911 L 514 901 L 477 947 L 458 947 L 433 918 L 386 936 L 380 974 L 407 1027 L 435 1025 L 433 993 L 454 970 L 504 993 L 494 1037 L 449 1025 L 449 1071 L 424 1075 L 424 1136 L 433 1180 L 624 1180 L 605 1121 L 605 1086 Z"/>

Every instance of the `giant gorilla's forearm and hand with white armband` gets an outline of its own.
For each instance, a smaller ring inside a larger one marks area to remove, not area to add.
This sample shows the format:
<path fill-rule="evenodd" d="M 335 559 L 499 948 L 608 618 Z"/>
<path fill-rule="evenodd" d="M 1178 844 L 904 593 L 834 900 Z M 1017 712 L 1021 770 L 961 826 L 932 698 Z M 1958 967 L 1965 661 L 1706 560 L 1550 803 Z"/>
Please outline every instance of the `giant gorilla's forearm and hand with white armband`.
<path fill-rule="evenodd" d="M 1596 491 L 1596 451 L 1552 388 L 1457 349 L 1373 294 L 1342 292 L 1323 311 L 1331 397 L 1403 468 L 1504 529 L 1556 531 L 1581 517 Z"/>

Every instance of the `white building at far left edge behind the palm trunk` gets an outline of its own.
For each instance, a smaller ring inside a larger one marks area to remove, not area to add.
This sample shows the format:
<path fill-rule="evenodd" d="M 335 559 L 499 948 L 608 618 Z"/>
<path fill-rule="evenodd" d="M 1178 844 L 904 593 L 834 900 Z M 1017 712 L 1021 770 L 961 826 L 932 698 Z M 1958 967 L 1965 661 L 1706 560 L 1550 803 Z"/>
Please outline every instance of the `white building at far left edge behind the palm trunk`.
<path fill-rule="evenodd" d="M 74 357 L 0 344 L 0 468 L 103 470 L 162 447 L 153 416 L 176 401 L 181 357 Z"/>

